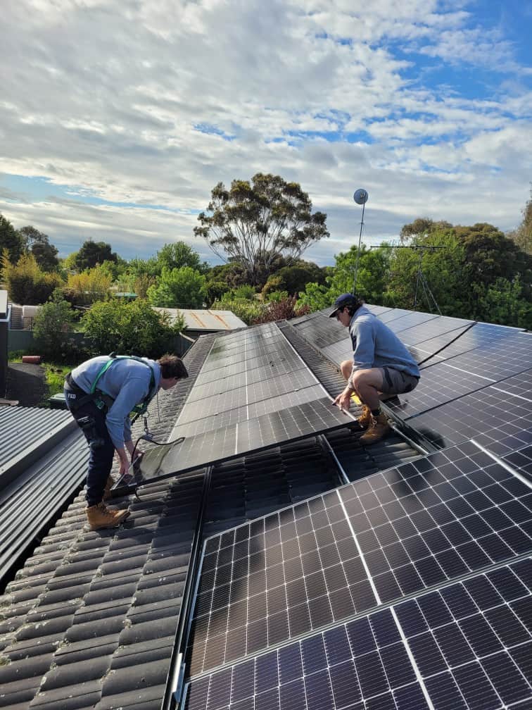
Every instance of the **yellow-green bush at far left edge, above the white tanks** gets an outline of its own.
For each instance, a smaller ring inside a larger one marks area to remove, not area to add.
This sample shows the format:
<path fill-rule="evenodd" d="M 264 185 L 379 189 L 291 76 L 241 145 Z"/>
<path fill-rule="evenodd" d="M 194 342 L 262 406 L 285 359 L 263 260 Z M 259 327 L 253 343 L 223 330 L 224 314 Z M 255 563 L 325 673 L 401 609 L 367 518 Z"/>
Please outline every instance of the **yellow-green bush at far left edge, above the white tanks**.
<path fill-rule="evenodd" d="M 54 290 L 63 285 L 59 274 L 41 271 L 31 253 L 23 254 L 16 266 L 4 256 L 2 272 L 9 297 L 21 305 L 45 303 Z"/>

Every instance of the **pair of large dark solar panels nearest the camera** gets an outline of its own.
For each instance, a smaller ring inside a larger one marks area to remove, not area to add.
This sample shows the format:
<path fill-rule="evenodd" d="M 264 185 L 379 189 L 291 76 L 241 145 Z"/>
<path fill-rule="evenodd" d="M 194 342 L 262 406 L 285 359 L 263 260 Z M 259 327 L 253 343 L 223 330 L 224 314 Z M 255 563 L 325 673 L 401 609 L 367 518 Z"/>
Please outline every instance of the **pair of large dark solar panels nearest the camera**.
<path fill-rule="evenodd" d="M 187 709 L 531 701 L 531 535 L 468 442 L 210 538 Z"/>

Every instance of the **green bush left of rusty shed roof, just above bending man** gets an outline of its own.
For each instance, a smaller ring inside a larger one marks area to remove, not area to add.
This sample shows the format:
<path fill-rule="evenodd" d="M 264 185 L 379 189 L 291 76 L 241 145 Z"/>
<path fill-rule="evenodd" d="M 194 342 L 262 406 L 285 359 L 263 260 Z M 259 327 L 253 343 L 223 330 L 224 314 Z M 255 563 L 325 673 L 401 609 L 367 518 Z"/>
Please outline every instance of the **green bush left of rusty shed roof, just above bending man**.
<path fill-rule="evenodd" d="M 82 324 L 94 354 L 116 351 L 148 357 L 170 351 L 173 338 L 184 327 L 182 319 L 170 325 L 169 315 L 139 298 L 96 302 L 82 317 Z"/>

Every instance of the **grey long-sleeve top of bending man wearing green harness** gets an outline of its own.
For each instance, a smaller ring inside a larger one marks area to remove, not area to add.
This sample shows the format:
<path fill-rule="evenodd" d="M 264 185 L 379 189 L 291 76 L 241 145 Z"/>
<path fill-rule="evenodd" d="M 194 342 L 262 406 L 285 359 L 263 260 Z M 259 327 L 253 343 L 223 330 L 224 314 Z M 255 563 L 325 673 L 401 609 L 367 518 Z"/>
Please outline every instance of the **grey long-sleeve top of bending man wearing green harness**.
<path fill-rule="evenodd" d="M 89 393 L 92 383 L 101 368 L 109 360 L 108 355 L 99 355 L 85 361 L 72 370 L 72 378 L 78 387 Z M 145 362 L 145 364 L 143 364 Z M 131 421 L 129 413 L 135 405 L 155 395 L 159 389 L 161 369 L 155 360 L 143 358 L 143 362 L 133 359 L 116 359 L 99 378 L 96 388 L 113 398 L 113 405 L 106 415 L 106 427 L 116 449 L 123 449 L 124 442 L 131 441 Z M 150 393 L 151 373 L 155 387 Z"/>

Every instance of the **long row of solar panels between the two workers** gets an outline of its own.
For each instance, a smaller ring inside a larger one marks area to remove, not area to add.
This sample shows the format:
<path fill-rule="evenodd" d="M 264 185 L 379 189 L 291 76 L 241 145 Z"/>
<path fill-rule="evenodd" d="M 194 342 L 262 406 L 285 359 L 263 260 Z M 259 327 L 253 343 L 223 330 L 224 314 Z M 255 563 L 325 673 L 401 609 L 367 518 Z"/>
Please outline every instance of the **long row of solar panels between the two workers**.
<path fill-rule="evenodd" d="M 223 335 L 170 435 L 184 441 L 148 450 L 133 479 L 116 486 L 141 485 L 350 423 L 353 417 L 332 406 L 275 324 Z"/>

